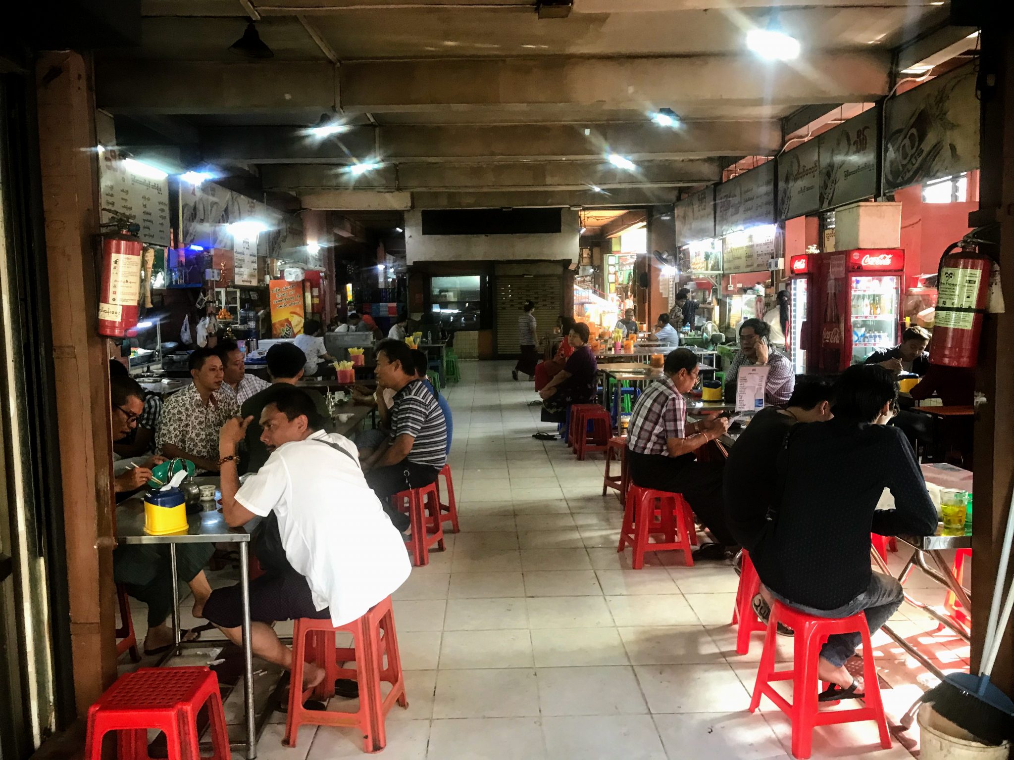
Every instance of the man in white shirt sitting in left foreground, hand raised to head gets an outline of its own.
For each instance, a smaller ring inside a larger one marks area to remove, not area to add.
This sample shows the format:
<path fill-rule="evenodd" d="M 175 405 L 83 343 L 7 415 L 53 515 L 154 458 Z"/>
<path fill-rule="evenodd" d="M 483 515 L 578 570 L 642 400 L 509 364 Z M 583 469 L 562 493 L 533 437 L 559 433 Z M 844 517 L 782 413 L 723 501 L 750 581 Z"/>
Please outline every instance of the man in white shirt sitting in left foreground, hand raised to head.
<path fill-rule="evenodd" d="M 321 430 L 313 402 L 298 388 L 280 387 L 264 407 L 261 440 L 272 455 L 240 486 L 236 446 L 251 420 L 230 420 L 220 433 L 222 515 L 232 527 L 271 513 L 278 520 L 284 557 L 271 557 L 271 569 L 249 583 L 250 642 L 258 657 L 291 669 L 292 651 L 271 622 L 350 622 L 390 596 L 412 567 L 402 536 L 366 484 L 356 447 Z M 258 558 L 265 564 L 260 551 Z M 238 586 L 213 592 L 204 615 L 229 640 L 241 642 Z M 303 686 L 323 677 L 322 669 L 307 664 Z"/>

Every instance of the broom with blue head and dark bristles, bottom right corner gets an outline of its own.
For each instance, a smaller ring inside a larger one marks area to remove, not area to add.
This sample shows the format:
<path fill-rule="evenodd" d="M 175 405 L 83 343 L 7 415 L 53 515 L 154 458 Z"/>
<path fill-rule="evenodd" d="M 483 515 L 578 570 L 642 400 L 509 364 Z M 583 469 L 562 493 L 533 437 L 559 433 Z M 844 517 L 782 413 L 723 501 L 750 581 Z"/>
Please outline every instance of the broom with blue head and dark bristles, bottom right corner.
<path fill-rule="evenodd" d="M 933 709 L 938 714 L 968 732 L 984 744 L 994 746 L 1003 744 L 1014 736 L 1014 702 L 990 683 L 990 674 L 1000 652 L 1003 632 L 1010 622 L 1011 611 L 1014 610 L 1014 588 L 1012 588 L 1003 603 L 1003 612 L 1000 611 L 1000 599 L 1006 586 L 1012 540 L 1014 540 L 1014 497 L 1011 498 L 1011 508 L 1007 514 L 1007 531 L 1000 552 L 1000 566 L 997 569 L 997 583 L 993 589 L 993 603 L 990 605 L 986 645 L 979 675 L 952 673 L 945 676 L 939 685 L 930 689 L 923 697 L 924 702 L 933 704 Z"/>

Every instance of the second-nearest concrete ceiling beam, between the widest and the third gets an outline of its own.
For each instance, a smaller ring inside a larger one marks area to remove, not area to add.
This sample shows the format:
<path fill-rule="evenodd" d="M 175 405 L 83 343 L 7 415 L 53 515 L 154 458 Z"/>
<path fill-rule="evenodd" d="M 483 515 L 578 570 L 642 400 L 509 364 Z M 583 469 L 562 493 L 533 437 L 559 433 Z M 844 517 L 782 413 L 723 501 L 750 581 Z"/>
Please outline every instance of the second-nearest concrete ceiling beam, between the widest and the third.
<path fill-rule="evenodd" d="M 588 132 L 585 135 L 585 131 Z M 665 129 L 641 124 L 351 127 L 328 138 L 296 127 L 229 127 L 201 131 L 206 160 L 218 163 L 351 163 L 594 159 L 605 153 L 641 158 L 768 155 L 781 147 L 776 121 L 686 122 Z"/>

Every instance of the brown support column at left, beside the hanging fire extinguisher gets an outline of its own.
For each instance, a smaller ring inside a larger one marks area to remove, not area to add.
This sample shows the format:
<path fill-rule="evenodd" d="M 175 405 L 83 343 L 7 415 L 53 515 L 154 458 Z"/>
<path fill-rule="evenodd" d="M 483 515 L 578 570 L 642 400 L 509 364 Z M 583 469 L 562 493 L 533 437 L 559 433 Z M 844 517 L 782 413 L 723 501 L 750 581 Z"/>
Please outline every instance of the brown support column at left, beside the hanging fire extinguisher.
<path fill-rule="evenodd" d="M 78 714 L 117 675 L 108 367 L 97 331 L 98 163 L 90 61 L 37 63 L 39 152 Z"/>

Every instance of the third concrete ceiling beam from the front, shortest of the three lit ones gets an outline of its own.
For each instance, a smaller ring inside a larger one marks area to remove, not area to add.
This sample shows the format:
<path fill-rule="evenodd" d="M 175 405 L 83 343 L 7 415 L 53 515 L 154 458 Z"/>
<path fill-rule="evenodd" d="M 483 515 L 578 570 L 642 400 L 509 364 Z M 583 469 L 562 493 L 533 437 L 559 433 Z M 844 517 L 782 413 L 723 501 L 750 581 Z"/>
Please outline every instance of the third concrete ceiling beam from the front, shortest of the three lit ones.
<path fill-rule="evenodd" d="M 346 167 L 313 164 L 268 164 L 262 169 L 265 186 L 293 193 L 320 189 L 372 191 L 583 191 L 610 187 L 679 186 L 717 181 L 714 160 L 647 161 L 636 171 L 611 164 L 584 161 L 531 161 L 498 164 L 385 164 L 359 176 Z"/>

